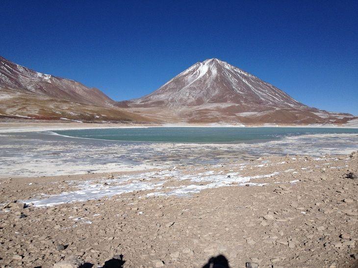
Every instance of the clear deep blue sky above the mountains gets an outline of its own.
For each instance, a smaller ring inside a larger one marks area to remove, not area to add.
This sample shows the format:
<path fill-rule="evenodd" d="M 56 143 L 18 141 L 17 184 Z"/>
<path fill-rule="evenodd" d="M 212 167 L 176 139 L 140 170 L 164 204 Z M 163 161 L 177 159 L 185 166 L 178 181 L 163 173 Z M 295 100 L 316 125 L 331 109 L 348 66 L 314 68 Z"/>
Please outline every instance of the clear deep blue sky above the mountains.
<path fill-rule="evenodd" d="M 0 10 L 0 55 L 115 100 L 215 57 L 307 105 L 358 115 L 357 0 L 1 0 Z"/>

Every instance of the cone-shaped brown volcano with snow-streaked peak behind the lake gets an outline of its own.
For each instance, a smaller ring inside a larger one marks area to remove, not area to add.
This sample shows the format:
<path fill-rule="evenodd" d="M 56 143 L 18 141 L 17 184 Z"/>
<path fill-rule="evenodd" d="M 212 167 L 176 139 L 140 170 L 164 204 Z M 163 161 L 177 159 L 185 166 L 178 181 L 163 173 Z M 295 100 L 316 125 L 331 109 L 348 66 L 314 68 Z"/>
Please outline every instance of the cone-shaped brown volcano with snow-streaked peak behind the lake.
<path fill-rule="evenodd" d="M 153 93 L 116 105 L 166 122 L 342 123 L 352 118 L 308 107 L 218 59 L 198 62 Z"/>

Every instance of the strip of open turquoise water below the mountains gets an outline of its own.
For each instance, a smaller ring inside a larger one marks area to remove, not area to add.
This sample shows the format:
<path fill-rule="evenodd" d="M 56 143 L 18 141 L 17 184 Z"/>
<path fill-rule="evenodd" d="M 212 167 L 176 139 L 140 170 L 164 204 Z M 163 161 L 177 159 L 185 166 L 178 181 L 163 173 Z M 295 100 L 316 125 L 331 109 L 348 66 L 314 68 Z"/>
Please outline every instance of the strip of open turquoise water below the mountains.
<path fill-rule="evenodd" d="M 311 127 L 149 127 L 56 130 L 60 135 L 111 141 L 171 143 L 250 143 L 305 134 L 358 134 L 352 128 Z"/>

